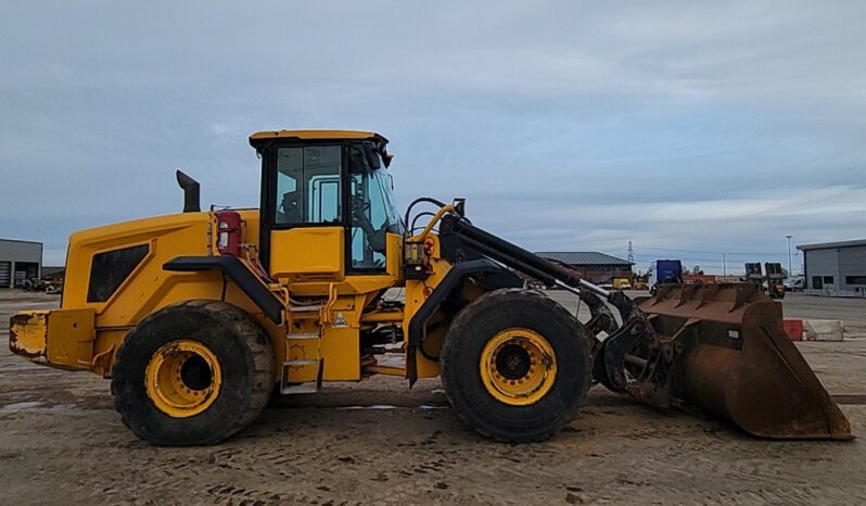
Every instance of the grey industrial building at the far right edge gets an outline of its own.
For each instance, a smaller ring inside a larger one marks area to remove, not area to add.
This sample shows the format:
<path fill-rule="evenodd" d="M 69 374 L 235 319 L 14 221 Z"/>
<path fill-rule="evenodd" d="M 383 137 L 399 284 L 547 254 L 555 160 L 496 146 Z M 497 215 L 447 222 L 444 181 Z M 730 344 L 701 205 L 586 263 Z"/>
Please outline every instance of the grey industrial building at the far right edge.
<path fill-rule="evenodd" d="M 806 291 L 866 295 L 866 239 L 797 246 L 803 252 Z"/>

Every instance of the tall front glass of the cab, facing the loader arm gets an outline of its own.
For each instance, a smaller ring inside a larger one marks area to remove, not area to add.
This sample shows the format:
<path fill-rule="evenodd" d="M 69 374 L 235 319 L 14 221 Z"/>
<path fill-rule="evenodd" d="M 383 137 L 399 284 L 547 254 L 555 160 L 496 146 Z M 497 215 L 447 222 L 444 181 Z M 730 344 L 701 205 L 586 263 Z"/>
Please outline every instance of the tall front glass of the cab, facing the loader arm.
<path fill-rule="evenodd" d="M 353 146 L 352 174 L 352 268 L 384 270 L 385 233 L 403 233 L 395 206 L 391 176 L 378 153 L 364 144 Z"/>

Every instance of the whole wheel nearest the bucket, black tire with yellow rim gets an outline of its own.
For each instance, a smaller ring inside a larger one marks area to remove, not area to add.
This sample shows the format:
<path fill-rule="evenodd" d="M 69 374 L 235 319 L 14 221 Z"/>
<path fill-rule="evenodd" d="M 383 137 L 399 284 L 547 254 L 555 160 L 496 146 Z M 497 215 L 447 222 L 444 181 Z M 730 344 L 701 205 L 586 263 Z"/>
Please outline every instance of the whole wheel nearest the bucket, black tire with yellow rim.
<path fill-rule="evenodd" d="M 455 318 L 442 350 L 448 400 L 477 432 L 543 441 L 571 421 L 590 385 L 583 326 L 542 293 L 497 290 Z"/>

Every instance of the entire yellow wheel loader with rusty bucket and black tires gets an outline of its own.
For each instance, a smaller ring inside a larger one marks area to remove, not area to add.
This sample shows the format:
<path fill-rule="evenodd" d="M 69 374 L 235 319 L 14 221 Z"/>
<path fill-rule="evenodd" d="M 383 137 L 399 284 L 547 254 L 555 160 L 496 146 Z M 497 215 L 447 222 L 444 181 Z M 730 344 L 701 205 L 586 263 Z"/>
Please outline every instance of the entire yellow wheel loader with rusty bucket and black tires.
<path fill-rule="evenodd" d="M 15 314 L 11 350 L 110 378 L 124 423 L 155 445 L 214 444 L 275 394 L 373 375 L 441 377 L 467 425 L 504 442 L 550 438 L 596 382 L 756 437 L 851 438 L 781 306 L 752 284 L 631 300 L 484 230 L 463 200 L 400 214 L 378 134 L 250 143 L 258 208 L 201 211 L 199 184 L 178 172 L 182 213 L 71 236 L 60 308 Z"/>

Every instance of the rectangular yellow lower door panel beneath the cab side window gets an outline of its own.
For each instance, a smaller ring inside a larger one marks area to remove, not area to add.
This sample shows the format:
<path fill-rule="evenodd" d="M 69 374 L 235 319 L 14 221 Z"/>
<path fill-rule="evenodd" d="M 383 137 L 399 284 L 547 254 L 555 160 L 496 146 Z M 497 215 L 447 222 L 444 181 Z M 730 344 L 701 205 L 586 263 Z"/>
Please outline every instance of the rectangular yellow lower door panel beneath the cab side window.
<path fill-rule="evenodd" d="M 270 275 L 291 282 L 342 280 L 344 238 L 343 227 L 273 231 L 270 235 Z"/>

